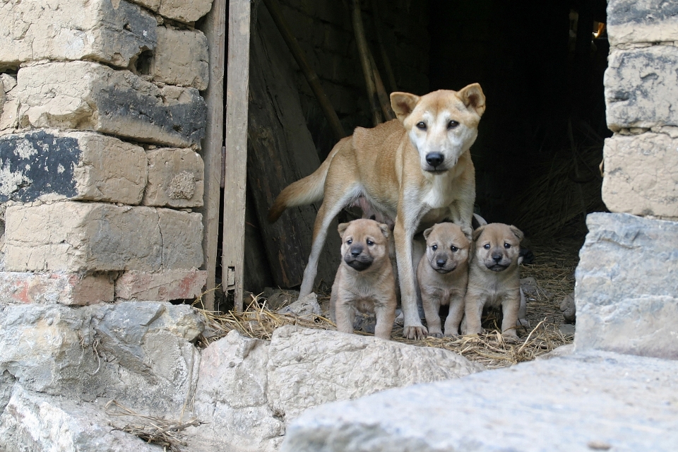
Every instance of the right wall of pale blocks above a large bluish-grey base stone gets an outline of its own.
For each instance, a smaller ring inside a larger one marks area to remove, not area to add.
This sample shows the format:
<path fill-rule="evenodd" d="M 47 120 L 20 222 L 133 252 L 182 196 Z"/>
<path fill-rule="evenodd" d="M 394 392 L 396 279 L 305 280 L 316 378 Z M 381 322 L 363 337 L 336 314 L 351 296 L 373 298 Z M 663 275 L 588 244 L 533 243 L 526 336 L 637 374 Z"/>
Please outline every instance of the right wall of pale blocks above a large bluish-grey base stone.
<path fill-rule="evenodd" d="M 678 359 L 678 6 L 613 0 L 607 16 L 612 213 L 587 220 L 576 347 Z"/>

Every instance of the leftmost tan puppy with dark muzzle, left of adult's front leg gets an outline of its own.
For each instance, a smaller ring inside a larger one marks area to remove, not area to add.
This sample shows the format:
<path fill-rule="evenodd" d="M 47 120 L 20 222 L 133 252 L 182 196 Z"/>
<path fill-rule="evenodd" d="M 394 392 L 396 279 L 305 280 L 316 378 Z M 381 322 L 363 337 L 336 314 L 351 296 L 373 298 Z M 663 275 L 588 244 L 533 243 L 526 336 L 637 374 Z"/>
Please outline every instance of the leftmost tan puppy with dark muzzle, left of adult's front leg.
<path fill-rule="evenodd" d="M 388 225 L 353 220 L 339 225 L 341 263 L 332 285 L 330 317 L 338 331 L 353 332 L 355 309 L 374 312 L 377 338 L 391 339 L 396 319 L 396 278 L 388 257 Z"/>

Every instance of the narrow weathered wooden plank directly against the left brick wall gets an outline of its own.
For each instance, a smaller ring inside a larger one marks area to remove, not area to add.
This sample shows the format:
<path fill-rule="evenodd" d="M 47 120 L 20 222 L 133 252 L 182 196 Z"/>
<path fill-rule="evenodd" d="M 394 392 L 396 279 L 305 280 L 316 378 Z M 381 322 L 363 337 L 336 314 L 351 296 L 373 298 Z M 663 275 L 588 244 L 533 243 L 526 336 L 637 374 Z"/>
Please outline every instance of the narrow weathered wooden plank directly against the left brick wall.
<path fill-rule="evenodd" d="M 219 236 L 219 203 L 224 141 L 224 62 L 226 50 L 226 0 L 213 0 L 203 25 L 209 45 L 210 82 L 205 92 L 207 127 L 203 140 L 205 191 L 203 196 L 203 254 L 207 270 L 207 292 L 203 307 L 215 309 L 214 288 Z"/>

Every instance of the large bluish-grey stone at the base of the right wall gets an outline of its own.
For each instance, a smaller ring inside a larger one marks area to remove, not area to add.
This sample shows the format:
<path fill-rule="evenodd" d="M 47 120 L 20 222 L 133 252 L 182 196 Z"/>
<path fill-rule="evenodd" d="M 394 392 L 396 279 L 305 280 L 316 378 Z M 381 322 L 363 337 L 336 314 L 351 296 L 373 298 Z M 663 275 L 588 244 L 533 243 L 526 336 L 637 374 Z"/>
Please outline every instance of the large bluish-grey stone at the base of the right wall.
<path fill-rule="evenodd" d="M 576 270 L 577 350 L 678 359 L 678 222 L 592 213 Z"/>

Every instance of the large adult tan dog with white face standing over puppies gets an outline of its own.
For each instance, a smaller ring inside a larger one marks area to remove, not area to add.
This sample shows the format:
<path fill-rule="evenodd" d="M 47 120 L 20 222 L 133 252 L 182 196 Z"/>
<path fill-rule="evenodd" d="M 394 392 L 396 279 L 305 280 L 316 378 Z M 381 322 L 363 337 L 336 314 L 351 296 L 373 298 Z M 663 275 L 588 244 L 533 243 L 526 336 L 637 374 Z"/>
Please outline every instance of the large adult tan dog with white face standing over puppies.
<path fill-rule="evenodd" d="M 417 313 L 412 237 L 446 219 L 471 236 L 475 169 L 470 147 L 485 97 L 474 83 L 458 92 L 439 90 L 422 97 L 391 93 L 391 106 L 397 120 L 374 129 L 357 127 L 335 145 L 319 169 L 280 193 L 268 220 L 277 220 L 285 208 L 323 200 L 304 270 L 303 297 L 313 290 L 328 227 L 340 210 L 363 198 L 369 210 L 393 218 L 403 336 L 424 338 L 427 330 Z"/>

